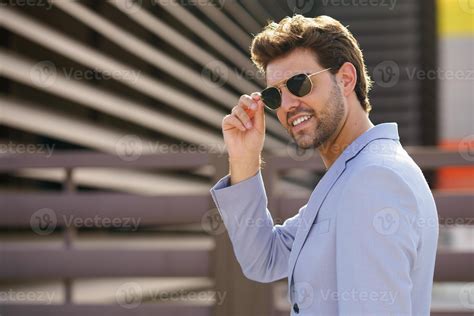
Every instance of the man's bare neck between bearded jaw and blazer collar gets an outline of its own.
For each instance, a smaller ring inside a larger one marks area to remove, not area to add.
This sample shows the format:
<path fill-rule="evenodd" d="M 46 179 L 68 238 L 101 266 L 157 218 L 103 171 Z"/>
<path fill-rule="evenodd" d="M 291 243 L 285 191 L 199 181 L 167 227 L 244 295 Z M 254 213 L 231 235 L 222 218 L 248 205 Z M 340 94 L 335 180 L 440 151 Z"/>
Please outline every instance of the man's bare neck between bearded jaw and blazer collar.
<path fill-rule="evenodd" d="M 362 109 L 360 104 L 354 104 L 354 106 L 349 108 L 350 110 L 342 126 L 326 143 L 318 148 L 326 169 L 332 166 L 344 149 L 357 137 L 374 127 L 368 114 Z"/>

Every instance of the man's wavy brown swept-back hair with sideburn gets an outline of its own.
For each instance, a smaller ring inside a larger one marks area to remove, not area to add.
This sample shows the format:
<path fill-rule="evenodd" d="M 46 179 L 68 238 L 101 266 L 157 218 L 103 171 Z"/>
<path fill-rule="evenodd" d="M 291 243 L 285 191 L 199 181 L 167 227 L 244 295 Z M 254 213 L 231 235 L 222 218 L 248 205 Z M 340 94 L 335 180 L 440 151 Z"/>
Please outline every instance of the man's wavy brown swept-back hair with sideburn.
<path fill-rule="evenodd" d="M 280 23 L 269 23 L 255 36 L 250 51 L 254 64 L 265 73 L 272 60 L 284 57 L 296 48 L 313 50 L 316 61 L 323 68 L 331 68 L 332 74 L 345 62 L 352 63 L 357 72 L 355 93 L 364 110 L 370 112 L 368 93 L 372 81 L 359 44 L 346 27 L 325 15 L 315 18 L 294 15 Z"/>

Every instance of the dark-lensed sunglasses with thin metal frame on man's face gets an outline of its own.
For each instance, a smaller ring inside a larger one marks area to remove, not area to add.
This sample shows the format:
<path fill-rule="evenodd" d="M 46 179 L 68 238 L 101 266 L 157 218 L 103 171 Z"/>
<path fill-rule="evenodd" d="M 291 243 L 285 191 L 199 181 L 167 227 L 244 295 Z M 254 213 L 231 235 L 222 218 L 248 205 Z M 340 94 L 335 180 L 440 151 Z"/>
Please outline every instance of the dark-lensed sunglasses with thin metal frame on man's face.
<path fill-rule="evenodd" d="M 271 111 L 276 111 L 281 106 L 280 87 L 282 86 L 286 86 L 288 91 L 297 97 L 304 97 L 310 94 L 313 90 L 311 77 L 330 69 L 331 68 L 323 69 L 312 74 L 297 74 L 278 83 L 276 86 L 265 88 L 260 92 L 265 107 Z"/>

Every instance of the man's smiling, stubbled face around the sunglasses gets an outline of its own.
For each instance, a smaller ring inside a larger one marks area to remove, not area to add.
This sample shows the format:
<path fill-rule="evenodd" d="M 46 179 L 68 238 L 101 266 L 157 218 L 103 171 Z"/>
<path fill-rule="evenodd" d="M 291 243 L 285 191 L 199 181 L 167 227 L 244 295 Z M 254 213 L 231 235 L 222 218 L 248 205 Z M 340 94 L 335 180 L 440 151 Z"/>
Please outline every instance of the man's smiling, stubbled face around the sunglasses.
<path fill-rule="evenodd" d="M 289 55 L 275 59 L 267 66 L 267 86 L 286 80 L 293 75 L 312 74 L 323 70 L 314 53 L 307 49 L 296 49 Z M 277 110 L 280 123 L 285 127 L 298 147 L 318 148 L 342 128 L 346 116 L 345 99 L 336 77 L 329 71 L 312 76 L 313 89 L 304 97 L 290 93 L 281 86 L 281 106 Z M 310 115 L 310 119 L 296 126 L 298 118 Z"/>

